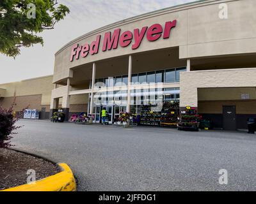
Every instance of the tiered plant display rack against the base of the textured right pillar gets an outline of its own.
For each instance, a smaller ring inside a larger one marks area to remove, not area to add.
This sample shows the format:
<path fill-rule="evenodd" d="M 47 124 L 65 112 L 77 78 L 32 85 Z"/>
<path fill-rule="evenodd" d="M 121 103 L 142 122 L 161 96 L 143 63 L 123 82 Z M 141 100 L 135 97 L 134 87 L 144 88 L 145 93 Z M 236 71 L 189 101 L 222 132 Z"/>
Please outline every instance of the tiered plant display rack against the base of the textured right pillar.
<path fill-rule="evenodd" d="M 195 108 L 186 107 L 186 110 L 180 112 L 178 119 L 178 130 L 198 131 L 202 117 L 197 114 Z"/>

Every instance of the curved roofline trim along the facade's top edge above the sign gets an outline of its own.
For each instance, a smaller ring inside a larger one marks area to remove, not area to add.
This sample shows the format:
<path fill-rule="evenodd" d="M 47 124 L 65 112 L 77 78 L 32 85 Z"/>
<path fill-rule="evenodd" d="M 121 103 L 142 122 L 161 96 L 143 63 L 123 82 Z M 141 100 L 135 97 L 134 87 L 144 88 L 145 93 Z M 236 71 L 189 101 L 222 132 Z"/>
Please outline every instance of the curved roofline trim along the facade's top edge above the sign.
<path fill-rule="evenodd" d="M 193 1 L 193 2 L 190 2 L 190 3 L 179 4 L 179 5 L 171 6 L 171 7 L 168 7 L 168 8 L 163 8 L 161 10 L 150 11 L 148 13 L 143 13 L 143 14 L 137 15 L 135 17 L 126 18 L 124 20 L 120 20 L 120 21 L 115 22 L 113 24 L 105 25 L 104 27 L 100 27 L 98 29 L 90 31 L 89 33 L 83 34 L 82 36 L 79 36 L 78 38 L 75 38 L 74 40 L 68 42 L 66 45 L 61 47 L 60 50 L 58 50 L 55 55 L 58 55 L 62 50 L 69 47 L 70 45 L 73 45 L 74 43 L 76 43 L 76 41 L 81 41 L 84 38 L 88 38 L 88 37 L 93 36 L 97 33 L 107 31 L 109 29 L 112 29 L 113 27 L 116 27 L 117 25 L 124 25 L 124 24 L 130 23 L 130 22 L 136 22 L 139 19 L 141 20 L 141 18 L 144 18 L 144 19 L 148 18 L 148 16 L 162 15 L 163 13 L 172 13 L 174 11 L 186 10 L 187 7 L 189 7 L 189 6 L 193 6 L 192 8 L 195 8 L 195 7 L 199 7 L 199 6 L 204 6 L 204 4 L 214 4 L 214 3 L 220 2 L 220 1 L 221 2 L 228 2 L 228 1 L 238 1 L 238 0 L 198 0 L 198 1 Z"/>

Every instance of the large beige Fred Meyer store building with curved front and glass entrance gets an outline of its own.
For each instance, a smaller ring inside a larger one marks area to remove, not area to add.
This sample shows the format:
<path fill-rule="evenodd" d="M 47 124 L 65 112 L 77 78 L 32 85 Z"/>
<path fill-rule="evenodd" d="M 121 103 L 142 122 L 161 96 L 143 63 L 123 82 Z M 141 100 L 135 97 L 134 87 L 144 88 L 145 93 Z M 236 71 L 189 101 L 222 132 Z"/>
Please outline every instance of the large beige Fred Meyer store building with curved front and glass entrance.
<path fill-rule="evenodd" d="M 198 1 L 102 27 L 62 47 L 53 76 L 0 85 L 0 105 L 15 96 L 17 112 L 29 104 L 49 119 L 61 107 L 99 122 L 104 107 L 113 120 L 179 101 L 215 128 L 246 129 L 256 117 L 255 8 L 255 0 Z"/>

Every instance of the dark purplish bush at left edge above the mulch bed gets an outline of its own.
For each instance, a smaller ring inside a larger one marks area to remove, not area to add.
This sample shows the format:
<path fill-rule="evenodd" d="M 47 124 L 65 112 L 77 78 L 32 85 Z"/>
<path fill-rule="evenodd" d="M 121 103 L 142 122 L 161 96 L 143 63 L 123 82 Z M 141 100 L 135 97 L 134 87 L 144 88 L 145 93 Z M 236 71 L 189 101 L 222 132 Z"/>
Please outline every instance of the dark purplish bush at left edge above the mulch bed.
<path fill-rule="evenodd" d="M 12 135 L 17 134 L 13 131 L 20 128 L 20 126 L 15 126 L 17 120 L 13 117 L 13 105 L 8 110 L 0 107 L 0 148 L 13 146 L 10 140 L 13 138 Z"/>

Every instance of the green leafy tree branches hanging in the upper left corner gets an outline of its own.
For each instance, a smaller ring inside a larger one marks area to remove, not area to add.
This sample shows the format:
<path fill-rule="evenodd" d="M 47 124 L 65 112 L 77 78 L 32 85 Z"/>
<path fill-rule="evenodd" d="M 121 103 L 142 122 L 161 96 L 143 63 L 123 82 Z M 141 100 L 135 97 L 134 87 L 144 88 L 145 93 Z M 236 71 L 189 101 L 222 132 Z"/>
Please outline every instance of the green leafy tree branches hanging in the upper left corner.
<path fill-rule="evenodd" d="M 44 45 L 42 33 L 69 13 L 57 0 L 1 0 L 0 52 L 9 57 L 20 54 L 20 47 Z"/>

